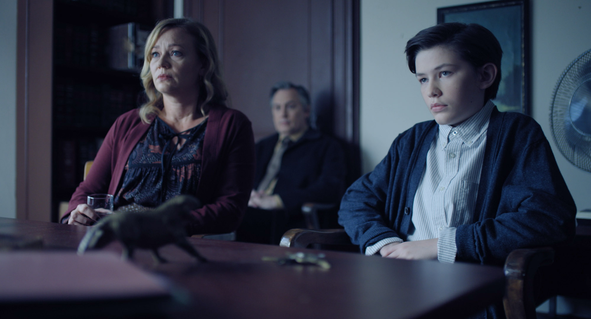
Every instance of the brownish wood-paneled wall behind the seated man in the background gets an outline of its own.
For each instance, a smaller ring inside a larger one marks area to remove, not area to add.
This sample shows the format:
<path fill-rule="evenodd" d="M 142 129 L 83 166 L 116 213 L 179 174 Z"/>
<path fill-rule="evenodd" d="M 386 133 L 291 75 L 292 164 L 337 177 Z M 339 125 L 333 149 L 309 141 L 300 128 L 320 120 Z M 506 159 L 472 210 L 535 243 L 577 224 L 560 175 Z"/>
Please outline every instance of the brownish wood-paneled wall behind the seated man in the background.
<path fill-rule="evenodd" d="M 255 139 L 274 133 L 271 86 L 302 84 L 317 127 L 344 142 L 358 175 L 358 0 L 185 0 L 184 12 L 212 32 L 230 107 L 251 119 Z"/>

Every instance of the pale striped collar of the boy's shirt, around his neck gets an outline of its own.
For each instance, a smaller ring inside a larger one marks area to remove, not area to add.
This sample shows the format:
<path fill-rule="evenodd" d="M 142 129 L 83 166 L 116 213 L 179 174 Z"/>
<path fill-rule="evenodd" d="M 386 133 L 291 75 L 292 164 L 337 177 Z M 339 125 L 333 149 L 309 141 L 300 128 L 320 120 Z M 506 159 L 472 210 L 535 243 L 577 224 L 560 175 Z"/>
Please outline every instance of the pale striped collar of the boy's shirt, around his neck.
<path fill-rule="evenodd" d="M 486 102 L 480 111 L 460 123 L 458 126 L 440 125 L 439 142 L 441 147 L 447 146 L 453 139 L 462 139 L 467 145 L 472 145 L 488 129 L 488 121 L 491 118 L 492 109 L 495 104 L 491 100 Z"/>

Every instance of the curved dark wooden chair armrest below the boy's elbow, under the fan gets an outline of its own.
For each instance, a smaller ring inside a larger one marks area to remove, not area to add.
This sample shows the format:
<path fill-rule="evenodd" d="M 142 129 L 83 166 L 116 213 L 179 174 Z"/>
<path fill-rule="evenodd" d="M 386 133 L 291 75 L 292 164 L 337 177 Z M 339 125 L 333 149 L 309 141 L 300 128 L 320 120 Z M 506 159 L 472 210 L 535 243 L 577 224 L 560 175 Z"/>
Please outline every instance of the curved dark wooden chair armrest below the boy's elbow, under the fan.
<path fill-rule="evenodd" d="M 554 249 L 551 247 L 515 249 L 507 256 L 503 305 L 508 319 L 536 318 L 534 276 L 538 268 L 553 262 Z"/>

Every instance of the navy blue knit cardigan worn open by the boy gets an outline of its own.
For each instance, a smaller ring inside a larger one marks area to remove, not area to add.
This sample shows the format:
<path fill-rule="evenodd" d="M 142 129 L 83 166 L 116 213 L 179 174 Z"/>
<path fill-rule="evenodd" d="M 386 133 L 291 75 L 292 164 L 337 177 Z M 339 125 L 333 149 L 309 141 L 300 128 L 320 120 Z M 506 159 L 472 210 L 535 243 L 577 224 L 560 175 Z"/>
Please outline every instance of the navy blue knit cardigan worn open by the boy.
<path fill-rule="evenodd" d="M 392 143 L 373 172 L 349 187 L 339 223 L 361 251 L 407 238 L 413 200 L 437 123 L 415 124 Z M 518 248 L 574 237 L 576 207 L 540 125 L 521 113 L 491 114 L 472 222 L 456 231 L 456 261 L 504 263 Z"/>

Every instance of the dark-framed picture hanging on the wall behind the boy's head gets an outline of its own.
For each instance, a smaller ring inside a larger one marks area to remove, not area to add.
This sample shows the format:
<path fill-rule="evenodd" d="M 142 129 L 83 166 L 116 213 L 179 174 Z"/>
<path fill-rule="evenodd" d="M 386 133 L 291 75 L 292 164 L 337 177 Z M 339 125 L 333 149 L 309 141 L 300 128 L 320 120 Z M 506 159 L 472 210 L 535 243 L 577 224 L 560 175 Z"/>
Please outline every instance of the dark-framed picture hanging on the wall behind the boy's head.
<path fill-rule="evenodd" d="M 501 0 L 437 8 L 437 23 L 477 23 L 501 43 L 501 85 L 493 102 L 499 111 L 530 113 L 529 0 Z"/>

